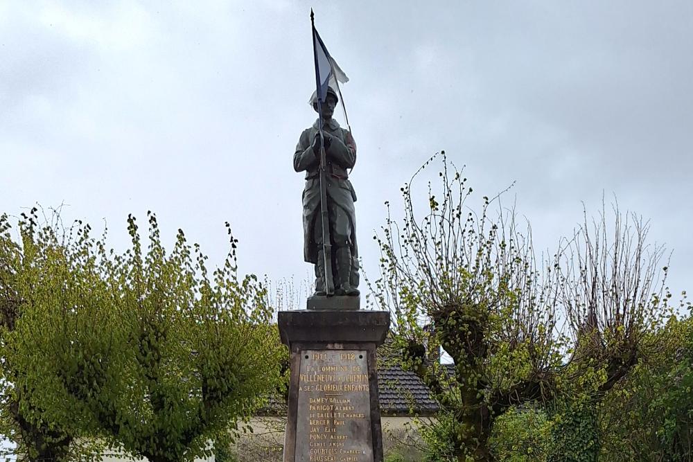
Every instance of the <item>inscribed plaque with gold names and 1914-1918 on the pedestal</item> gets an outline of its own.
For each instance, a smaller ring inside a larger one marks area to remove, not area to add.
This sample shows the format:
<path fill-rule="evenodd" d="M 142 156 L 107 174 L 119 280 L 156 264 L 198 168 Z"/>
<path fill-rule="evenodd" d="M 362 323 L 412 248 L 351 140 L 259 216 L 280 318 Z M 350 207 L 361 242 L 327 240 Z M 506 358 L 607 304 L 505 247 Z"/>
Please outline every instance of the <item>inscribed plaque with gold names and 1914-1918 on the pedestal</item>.
<path fill-rule="evenodd" d="M 295 462 L 373 462 L 364 350 L 301 351 Z"/>

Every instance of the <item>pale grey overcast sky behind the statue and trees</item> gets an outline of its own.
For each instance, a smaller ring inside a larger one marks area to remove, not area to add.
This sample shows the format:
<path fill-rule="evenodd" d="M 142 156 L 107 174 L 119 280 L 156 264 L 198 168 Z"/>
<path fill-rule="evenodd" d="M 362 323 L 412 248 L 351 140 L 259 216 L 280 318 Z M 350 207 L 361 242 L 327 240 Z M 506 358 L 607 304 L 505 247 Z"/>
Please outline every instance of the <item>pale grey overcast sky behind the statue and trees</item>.
<path fill-rule="evenodd" d="M 370 274 L 383 202 L 442 149 L 478 197 L 516 181 L 540 248 L 615 197 L 674 252 L 672 290 L 691 287 L 690 0 L 0 0 L 0 211 L 64 203 L 122 247 L 128 213 L 152 210 L 215 262 L 229 221 L 243 272 L 304 281 L 311 6 L 351 79 Z"/>

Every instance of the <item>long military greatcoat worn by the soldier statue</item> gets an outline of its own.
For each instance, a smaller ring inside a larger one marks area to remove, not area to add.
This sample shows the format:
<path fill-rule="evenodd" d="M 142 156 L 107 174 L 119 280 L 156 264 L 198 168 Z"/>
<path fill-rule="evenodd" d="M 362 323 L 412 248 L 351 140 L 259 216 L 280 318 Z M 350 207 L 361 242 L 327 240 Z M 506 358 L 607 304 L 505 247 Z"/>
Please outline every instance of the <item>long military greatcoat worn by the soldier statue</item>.
<path fill-rule="evenodd" d="M 318 245 L 315 230 L 316 220 L 321 220 L 320 163 L 319 157 L 313 153 L 312 146 L 315 134 L 319 132 L 318 124 L 319 120 L 301 133 L 294 154 L 294 170 L 297 172 L 306 171 L 306 187 L 303 192 L 304 259 L 309 263 L 317 263 Z M 353 142 L 351 133 L 340 127 L 340 124 L 334 119 L 331 119 L 329 123 L 324 123 L 322 130 L 332 135 L 332 142 L 325 152 L 328 208 L 331 209 L 330 215 L 344 213 L 349 218 L 351 236 L 348 238 L 351 258 L 356 263 L 356 267 L 353 269 L 356 269 L 358 268 L 358 251 L 356 247 L 356 212 L 353 206 L 353 203 L 356 202 L 356 193 L 351 186 L 351 181 L 349 181 L 349 175 L 347 175 L 347 169 L 353 168 L 354 163 L 356 163 L 356 144 Z M 319 229 L 319 223 L 317 225 L 317 229 Z M 332 226 L 330 227 L 332 229 Z"/>

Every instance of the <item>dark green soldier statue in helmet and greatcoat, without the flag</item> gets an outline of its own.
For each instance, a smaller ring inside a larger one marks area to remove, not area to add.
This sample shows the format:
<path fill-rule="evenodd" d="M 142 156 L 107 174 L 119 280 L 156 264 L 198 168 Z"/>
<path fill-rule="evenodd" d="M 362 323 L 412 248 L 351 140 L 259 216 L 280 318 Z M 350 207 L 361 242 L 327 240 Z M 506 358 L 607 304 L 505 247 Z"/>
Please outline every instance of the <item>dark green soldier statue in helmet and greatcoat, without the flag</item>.
<path fill-rule="evenodd" d="M 356 212 L 353 203 L 356 193 L 349 181 L 347 169 L 356 163 L 356 144 L 351 132 L 340 127 L 332 118 L 339 98 L 332 87 L 328 87 L 325 101 L 320 104 L 313 99 L 313 109 L 322 115 L 312 127 L 301 133 L 294 154 L 294 170 L 306 171 L 306 187 L 303 192 L 304 259 L 315 265 L 314 296 L 329 295 L 328 287 L 334 287 L 335 295 L 358 296 L 358 251 L 356 247 Z M 322 141 L 322 143 L 321 143 Z M 329 218 L 328 236 L 331 242 L 324 245 L 324 230 L 321 217 L 320 157 L 324 147 L 326 189 Z M 326 271 L 324 249 L 330 249 L 331 271 Z M 333 285 L 326 278 L 333 275 Z"/>

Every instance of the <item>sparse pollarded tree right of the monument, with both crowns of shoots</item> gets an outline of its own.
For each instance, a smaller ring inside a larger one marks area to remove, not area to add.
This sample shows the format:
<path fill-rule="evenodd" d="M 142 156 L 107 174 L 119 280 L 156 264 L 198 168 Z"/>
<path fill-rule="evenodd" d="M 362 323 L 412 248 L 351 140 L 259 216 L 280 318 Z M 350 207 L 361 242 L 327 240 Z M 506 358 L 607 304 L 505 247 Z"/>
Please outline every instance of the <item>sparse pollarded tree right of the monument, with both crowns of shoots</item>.
<path fill-rule="evenodd" d="M 396 347 L 403 352 L 404 366 L 428 384 L 450 416 L 444 432 L 450 440 L 445 445 L 448 454 L 441 455 L 490 461 L 493 423 L 508 409 L 565 393 L 604 391 L 629 371 L 633 359 L 624 351 L 643 346 L 641 332 L 658 321 L 666 304 L 665 297 L 649 293 L 657 282 L 661 254 L 647 254 L 642 244 L 646 233 L 631 236 L 619 228 L 619 245 L 600 247 L 599 256 L 617 258 L 611 269 L 624 272 L 623 277 L 609 278 L 602 261 L 597 281 L 580 285 L 578 276 L 586 265 L 581 256 L 596 251 L 586 227 L 556 255 L 537 260 L 529 224 L 520 227 L 514 210 L 502 208 L 500 195 L 484 197 L 480 213 L 475 213 L 467 203 L 473 191 L 466 178 L 444 152 L 441 158 L 441 188 L 428 183 L 425 205 L 416 202 L 412 188 L 433 158 L 402 188 L 401 220 L 388 211 L 383 235 L 375 237 L 381 275 L 371 290 L 375 303 L 394 314 Z M 497 214 L 491 215 L 492 204 L 498 206 Z M 633 266 L 633 258 L 646 261 Z M 637 292 L 638 299 L 633 302 L 631 295 L 620 293 L 618 301 L 602 301 L 597 314 L 602 321 L 595 330 L 589 323 L 593 317 L 583 316 L 584 297 L 571 305 L 568 294 L 581 293 L 580 287 L 596 288 L 597 283 Z M 574 336 L 559 326 L 559 319 L 572 321 Z M 601 349 L 596 344 L 587 348 L 595 336 L 608 342 L 600 344 Z M 452 357 L 453 366 L 431 360 L 430 352 L 439 348 Z M 570 350 L 572 359 L 566 364 Z"/>

